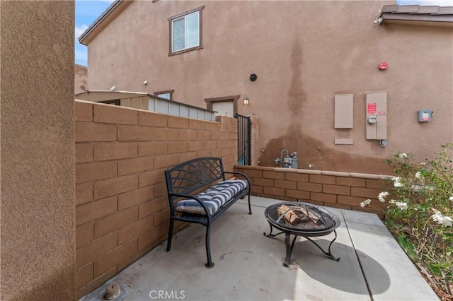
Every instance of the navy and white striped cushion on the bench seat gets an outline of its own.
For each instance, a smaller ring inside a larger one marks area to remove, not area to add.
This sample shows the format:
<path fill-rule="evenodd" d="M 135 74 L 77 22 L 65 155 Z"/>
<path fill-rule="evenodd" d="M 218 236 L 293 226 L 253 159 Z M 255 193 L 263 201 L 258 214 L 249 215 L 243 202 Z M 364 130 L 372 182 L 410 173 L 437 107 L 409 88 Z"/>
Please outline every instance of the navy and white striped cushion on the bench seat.
<path fill-rule="evenodd" d="M 219 210 L 224 203 L 229 201 L 235 194 L 246 187 L 247 182 L 241 179 L 222 181 L 210 187 L 206 191 L 196 194 L 195 196 L 200 198 L 205 203 L 207 209 L 212 215 Z M 185 212 L 206 215 L 206 212 L 200 203 L 191 199 L 178 201 L 175 205 L 175 210 L 180 213 Z"/>

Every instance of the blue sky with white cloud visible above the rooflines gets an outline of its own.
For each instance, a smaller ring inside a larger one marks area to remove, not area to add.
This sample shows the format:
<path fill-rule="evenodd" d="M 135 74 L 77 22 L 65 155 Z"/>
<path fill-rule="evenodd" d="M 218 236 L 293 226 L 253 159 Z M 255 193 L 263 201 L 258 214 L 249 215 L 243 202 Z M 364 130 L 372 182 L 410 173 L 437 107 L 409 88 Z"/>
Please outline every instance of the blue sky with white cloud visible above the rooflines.
<path fill-rule="evenodd" d="M 76 30 L 75 30 L 75 62 L 76 64 L 87 65 L 86 46 L 79 43 L 79 36 L 84 33 L 91 23 L 101 16 L 114 0 L 76 0 Z M 453 6 L 453 0 L 396 0 L 399 5 L 439 5 Z"/>

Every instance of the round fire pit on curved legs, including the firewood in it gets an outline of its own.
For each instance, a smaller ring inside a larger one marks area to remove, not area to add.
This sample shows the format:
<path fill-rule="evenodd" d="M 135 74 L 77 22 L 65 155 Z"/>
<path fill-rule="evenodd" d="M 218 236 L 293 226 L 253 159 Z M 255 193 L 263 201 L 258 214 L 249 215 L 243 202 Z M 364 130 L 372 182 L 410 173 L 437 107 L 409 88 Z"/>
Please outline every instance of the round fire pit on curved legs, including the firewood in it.
<path fill-rule="evenodd" d="M 297 201 L 275 203 L 266 208 L 264 215 L 270 225 L 270 233 L 266 234 L 264 232 L 263 235 L 275 237 L 285 233 L 286 258 L 285 262 L 283 262 L 284 266 L 288 266 L 289 261 L 291 261 L 292 249 L 297 236 L 305 237 L 310 242 L 313 242 L 330 259 L 340 260 L 340 258 L 336 258 L 331 253 L 331 246 L 337 239 L 336 228 L 340 226 L 341 222 L 340 218 L 331 213 L 331 211 L 311 203 Z M 273 228 L 280 230 L 280 232 L 272 234 Z M 310 238 L 328 235 L 331 232 L 335 233 L 335 237 L 328 245 L 328 252 L 324 251 L 319 244 Z M 294 235 L 291 244 L 289 243 L 290 235 Z"/>

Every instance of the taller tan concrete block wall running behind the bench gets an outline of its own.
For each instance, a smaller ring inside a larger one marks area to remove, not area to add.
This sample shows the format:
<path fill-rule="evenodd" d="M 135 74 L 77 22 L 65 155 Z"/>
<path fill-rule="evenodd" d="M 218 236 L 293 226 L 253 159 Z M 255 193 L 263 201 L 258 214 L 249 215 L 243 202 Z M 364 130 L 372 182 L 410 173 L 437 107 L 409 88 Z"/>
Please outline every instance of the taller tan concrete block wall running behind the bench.
<path fill-rule="evenodd" d="M 225 170 L 234 169 L 237 122 L 83 101 L 75 102 L 75 110 L 79 298 L 166 240 L 164 170 L 204 156 L 222 157 Z"/>

